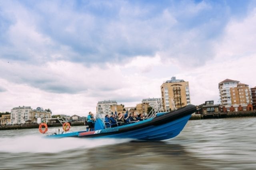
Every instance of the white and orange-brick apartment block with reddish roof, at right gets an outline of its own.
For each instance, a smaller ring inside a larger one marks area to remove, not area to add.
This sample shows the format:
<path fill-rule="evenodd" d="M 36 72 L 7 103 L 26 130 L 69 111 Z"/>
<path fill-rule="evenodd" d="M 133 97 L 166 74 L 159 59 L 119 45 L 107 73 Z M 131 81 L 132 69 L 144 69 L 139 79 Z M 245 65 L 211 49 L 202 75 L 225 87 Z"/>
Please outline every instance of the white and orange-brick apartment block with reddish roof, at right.
<path fill-rule="evenodd" d="M 219 92 L 224 112 L 252 110 L 250 89 L 247 84 L 226 79 L 219 83 Z"/>

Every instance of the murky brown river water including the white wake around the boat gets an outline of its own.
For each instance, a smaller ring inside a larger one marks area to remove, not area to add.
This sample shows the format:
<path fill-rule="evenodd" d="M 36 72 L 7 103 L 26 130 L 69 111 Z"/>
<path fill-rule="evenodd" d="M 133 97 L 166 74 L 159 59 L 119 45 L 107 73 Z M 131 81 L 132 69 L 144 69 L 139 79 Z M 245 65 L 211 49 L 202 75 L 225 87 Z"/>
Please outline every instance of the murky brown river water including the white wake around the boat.
<path fill-rule="evenodd" d="M 0 169 L 256 169 L 255 131 L 256 117 L 188 121 L 180 135 L 161 142 L 45 139 L 38 129 L 0 131 Z"/>

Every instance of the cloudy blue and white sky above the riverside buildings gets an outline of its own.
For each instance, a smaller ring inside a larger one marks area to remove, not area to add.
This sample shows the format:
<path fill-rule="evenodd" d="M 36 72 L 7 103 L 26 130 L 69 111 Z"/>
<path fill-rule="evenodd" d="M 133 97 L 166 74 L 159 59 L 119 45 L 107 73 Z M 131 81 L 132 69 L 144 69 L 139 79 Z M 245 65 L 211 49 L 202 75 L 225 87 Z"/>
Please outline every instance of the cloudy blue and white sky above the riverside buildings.
<path fill-rule="evenodd" d="M 255 66 L 255 0 L 0 0 L 0 112 L 134 107 L 172 76 L 218 104 L 227 78 L 256 86 Z"/>

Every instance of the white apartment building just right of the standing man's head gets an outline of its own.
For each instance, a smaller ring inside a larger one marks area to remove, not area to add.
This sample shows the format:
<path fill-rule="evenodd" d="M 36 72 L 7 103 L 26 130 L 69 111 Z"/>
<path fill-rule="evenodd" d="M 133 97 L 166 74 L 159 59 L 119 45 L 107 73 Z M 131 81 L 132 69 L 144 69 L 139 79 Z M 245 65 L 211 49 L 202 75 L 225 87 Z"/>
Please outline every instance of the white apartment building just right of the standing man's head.
<path fill-rule="evenodd" d="M 115 100 L 104 100 L 98 102 L 96 109 L 97 113 L 111 114 L 112 111 L 117 111 L 117 102 Z"/>

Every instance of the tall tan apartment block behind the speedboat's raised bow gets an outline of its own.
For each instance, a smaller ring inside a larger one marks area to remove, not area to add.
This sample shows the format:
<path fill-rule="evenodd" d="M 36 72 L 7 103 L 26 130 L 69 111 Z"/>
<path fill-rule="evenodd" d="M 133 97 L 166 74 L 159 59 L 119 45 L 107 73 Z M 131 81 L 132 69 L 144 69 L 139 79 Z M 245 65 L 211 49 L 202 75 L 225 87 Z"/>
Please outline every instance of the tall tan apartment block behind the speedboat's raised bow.
<path fill-rule="evenodd" d="M 190 104 L 189 83 L 172 77 L 161 85 L 164 111 Z"/>

